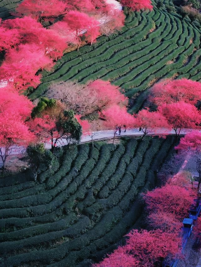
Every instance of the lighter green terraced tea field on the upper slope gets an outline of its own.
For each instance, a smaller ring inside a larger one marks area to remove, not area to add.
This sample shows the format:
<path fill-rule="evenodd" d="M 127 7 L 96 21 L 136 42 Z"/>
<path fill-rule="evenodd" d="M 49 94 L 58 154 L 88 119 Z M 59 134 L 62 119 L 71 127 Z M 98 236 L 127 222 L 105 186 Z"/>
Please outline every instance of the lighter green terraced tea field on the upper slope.
<path fill-rule="evenodd" d="M 171 1 L 164 3 L 174 7 Z M 166 8 L 133 13 L 117 34 L 64 55 L 53 73 L 43 73 L 42 84 L 30 97 L 44 95 L 52 81 L 61 80 L 110 80 L 130 98 L 162 78 L 200 80 L 201 31 L 196 23 Z M 133 111 L 139 110 L 146 93 L 137 98 Z"/>

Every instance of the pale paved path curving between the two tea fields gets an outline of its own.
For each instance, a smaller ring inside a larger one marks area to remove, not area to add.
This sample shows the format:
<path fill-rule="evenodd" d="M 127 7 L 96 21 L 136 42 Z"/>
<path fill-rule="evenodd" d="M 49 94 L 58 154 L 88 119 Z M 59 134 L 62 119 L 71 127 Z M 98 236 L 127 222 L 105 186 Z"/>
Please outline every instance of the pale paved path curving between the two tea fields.
<path fill-rule="evenodd" d="M 180 135 L 181 134 L 186 134 L 188 130 L 182 130 L 180 132 Z M 163 133 L 163 135 L 175 135 L 175 131 L 173 129 L 169 130 L 169 129 L 163 129 L 161 131 L 151 131 L 148 133 L 148 135 L 158 135 L 159 133 L 161 134 L 161 132 Z M 93 137 L 93 140 L 96 141 L 96 140 L 103 140 L 103 139 L 108 139 L 108 138 L 113 138 L 114 136 L 114 131 L 113 130 L 106 130 L 106 131 L 97 131 L 95 133 L 93 133 L 94 137 Z M 123 128 L 122 128 L 122 131 L 121 131 L 121 135 L 118 135 L 118 132 L 117 132 L 117 135 L 116 135 L 116 138 L 117 137 L 122 137 L 122 136 L 142 136 L 143 135 L 143 132 L 142 131 L 139 131 L 139 128 L 138 129 L 127 129 L 126 132 L 124 132 Z M 87 143 L 87 142 L 91 142 L 91 137 L 89 135 L 85 135 L 83 134 L 82 137 L 81 137 L 81 141 L 80 141 L 80 144 L 81 143 Z M 62 138 L 62 139 L 59 139 L 59 141 L 57 142 L 57 146 L 65 146 L 67 144 L 67 141 L 66 139 Z M 47 149 L 50 149 L 51 148 L 51 144 L 50 143 L 46 143 L 45 147 Z M 22 153 L 24 150 L 23 147 L 18 147 L 17 149 L 13 149 L 12 152 L 11 152 L 11 155 L 17 155 L 17 154 L 20 154 Z M 0 167 L 2 167 L 2 160 L 0 158 Z"/>

